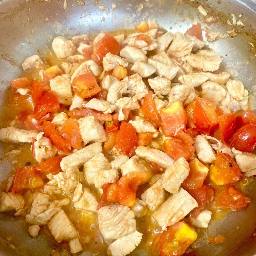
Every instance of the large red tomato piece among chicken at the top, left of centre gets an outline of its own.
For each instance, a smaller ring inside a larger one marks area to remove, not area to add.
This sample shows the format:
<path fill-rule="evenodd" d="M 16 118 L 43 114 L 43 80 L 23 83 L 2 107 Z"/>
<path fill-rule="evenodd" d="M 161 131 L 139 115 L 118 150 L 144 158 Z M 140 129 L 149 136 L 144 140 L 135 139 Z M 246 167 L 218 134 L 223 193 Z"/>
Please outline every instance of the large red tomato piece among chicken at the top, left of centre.
<path fill-rule="evenodd" d="M 114 55 L 117 55 L 120 48 L 120 44 L 115 39 L 115 37 L 105 34 L 94 46 L 92 59 L 99 64 L 102 64 L 103 58 L 108 52 L 111 52 Z"/>

